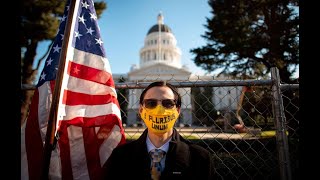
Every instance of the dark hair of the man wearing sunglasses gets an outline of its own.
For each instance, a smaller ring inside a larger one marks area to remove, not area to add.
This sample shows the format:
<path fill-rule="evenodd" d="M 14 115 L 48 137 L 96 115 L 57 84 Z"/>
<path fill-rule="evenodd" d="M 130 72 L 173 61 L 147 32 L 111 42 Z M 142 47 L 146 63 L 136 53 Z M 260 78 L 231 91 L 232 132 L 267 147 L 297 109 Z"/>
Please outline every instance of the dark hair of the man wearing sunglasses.
<path fill-rule="evenodd" d="M 174 99 L 176 100 L 176 106 L 177 107 L 180 107 L 181 106 L 181 96 L 178 92 L 178 89 L 173 86 L 172 84 L 170 83 L 167 83 L 165 81 L 156 81 L 156 82 L 153 82 L 151 84 L 149 84 L 148 87 L 146 87 L 142 93 L 141 93 L 141 96 L 140 96 L 140 104 L 142 105 L 142 102 L 143 102 L 143 99 L 144 99 L 144 96 L 146 95 L 147 91 L 152 88 L 152 87 L 156 87 L 156 86 L 166 86 L 166 87 L 169 87 L 173 94 L 174 94 Z"/>

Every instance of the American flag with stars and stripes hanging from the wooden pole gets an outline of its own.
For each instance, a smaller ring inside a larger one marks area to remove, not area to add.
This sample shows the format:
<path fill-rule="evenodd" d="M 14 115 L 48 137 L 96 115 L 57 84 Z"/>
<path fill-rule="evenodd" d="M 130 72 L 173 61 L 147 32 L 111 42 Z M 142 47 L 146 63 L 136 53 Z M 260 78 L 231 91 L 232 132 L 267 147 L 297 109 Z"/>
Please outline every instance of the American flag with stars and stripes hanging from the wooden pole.
<path fill-rule="evenodd" d="M 58 143 L 51 154 L 50 179 L 101 179 L 112 150 L 125 143 L 109 61 L 92 0 L 70 0 L 21 128 L 21 179 L 40 179 L 43 147 L 66 22 L 72 18 L 58 103 Z"/>

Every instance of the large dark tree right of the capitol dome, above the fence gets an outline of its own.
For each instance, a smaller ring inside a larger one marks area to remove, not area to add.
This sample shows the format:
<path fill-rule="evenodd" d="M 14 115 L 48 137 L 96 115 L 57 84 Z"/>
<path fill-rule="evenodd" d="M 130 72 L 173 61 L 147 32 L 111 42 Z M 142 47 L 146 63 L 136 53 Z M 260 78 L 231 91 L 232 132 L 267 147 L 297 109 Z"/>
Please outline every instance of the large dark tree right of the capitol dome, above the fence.
<path fill-rule="evenodd" d="M 191 49 L 197 66 L 234 77 L 264 77 L 279 69 L 283 82 L 299 65 L 299 1 L 209 0 L 207 45 Z"/>

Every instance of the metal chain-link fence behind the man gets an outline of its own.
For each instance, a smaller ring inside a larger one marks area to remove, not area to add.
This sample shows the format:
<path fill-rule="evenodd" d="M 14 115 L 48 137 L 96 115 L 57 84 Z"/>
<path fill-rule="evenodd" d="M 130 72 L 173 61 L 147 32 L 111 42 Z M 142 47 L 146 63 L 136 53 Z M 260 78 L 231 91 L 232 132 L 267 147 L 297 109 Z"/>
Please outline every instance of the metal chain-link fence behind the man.
<path fill-rule="evenodd" d="M 175 128 L 211 152 L 217 179 L 299 177 L 299 84 L 282 84 L 276 69 L 263 80 L 167 81 L 182 96 Z M 129 142 L 145 129 L 139 97 L 151 80 L 115 82 Z"/>

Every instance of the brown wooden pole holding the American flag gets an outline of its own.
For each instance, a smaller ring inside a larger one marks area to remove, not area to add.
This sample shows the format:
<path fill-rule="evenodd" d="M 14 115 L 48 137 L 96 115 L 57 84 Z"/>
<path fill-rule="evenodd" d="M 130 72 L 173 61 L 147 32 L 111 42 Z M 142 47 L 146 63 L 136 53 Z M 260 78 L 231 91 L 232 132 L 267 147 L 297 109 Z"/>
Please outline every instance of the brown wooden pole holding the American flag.
<path fill-rule="evenodd" d="M 56 75 L 54 92 L 52 96 L 52 103 L 51 103 L 50 112 L 49 112 L 47 133 L 46 133 L 44 153 L 43 153 L 43 166 L 42 166 L 43 169 L 41 174 L 41 179 L 44 179 L 44 180 L 49 179 L 51 153 L 55 146 L 55 143 L 57 143 L 55 141 L 55 131 L 56 131 L 56 124 L 57 124 L 57 117 L 58 117 L 58 105 L 59 105 L 59 99 L 60 99 L 60 93 L 61 93 L 60 91 L 62 86 L 63 73 L 65 69 L 67 47 L 69 43 L 70 30 L 71 30 L 76 1 L 77 0 L 70 0 L 68 18 L 67 18 L 66 27 L 64 30 L 64 39 L 62 42 L 62 48 L 61 48 L 61 53 L 59 57 L 59 68 Z"/>

